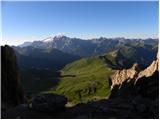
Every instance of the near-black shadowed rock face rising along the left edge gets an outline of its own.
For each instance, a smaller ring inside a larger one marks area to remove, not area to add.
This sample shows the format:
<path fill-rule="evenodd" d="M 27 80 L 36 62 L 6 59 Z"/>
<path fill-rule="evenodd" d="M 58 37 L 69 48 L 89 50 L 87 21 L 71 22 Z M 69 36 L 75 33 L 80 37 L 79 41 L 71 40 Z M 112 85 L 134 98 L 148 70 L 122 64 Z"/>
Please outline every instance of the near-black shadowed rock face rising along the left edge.
<path fill-rule="evenodd" d="M 5 45 L 1 47 L 1 98 L 2 111 L 8 107 L 14 107 L 24 103 L 24 92 L 20 84 L 20 74 L 14 50 Z"/>

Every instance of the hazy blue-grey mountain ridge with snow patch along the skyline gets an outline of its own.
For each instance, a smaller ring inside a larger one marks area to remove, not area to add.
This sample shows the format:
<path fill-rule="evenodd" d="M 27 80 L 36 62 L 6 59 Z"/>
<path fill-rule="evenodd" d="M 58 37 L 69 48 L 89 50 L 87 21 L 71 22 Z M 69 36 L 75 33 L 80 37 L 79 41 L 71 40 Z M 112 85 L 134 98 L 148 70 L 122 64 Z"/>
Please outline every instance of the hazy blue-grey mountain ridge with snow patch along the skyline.
<path fill-rule="evenodd" d="M 56 48 L 60 51 L 78 55 L 81 57 L 89 57 L 93 55 L 100 55 L 112 51 L 115 48 L 123 46 L 150 48 L 158 44 L 158 39 L 125 39 L 125 38 L 94 38 L 94 39 L 80 39 L 70 38 L 67 36 L 54 36 L 31 43 L 21 44 L 17 47 L 32 46 L 35 48 L 47 49 Z"/>

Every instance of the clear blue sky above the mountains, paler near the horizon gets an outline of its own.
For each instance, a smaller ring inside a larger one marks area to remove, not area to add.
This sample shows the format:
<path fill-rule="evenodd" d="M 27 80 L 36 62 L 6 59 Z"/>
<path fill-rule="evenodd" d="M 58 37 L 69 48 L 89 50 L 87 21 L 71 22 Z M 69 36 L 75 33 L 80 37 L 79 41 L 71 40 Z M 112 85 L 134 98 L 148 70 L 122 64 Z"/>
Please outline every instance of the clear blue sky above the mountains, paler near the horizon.
<path fill-rule="evenodd" d="M 18 45 L 64 34 L 158 38 L 158 1 L 3 1 L 1 44 Z"/>

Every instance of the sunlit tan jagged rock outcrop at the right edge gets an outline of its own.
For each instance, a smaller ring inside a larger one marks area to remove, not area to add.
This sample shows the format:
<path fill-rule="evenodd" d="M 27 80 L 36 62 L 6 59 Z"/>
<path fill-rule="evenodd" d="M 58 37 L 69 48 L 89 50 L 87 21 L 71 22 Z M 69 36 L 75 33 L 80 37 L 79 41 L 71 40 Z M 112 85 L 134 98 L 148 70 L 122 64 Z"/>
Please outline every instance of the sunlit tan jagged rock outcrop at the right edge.
<path fill-rule="evenodd" d="M 118 85 L 119 87 L 124 82 L 130 82 L 134 80 L 135 82 L 142 77 L 152 76 L 155 71 L 158 71 L 158 54 L 156 60 L 154 60 L 149 67 L 141 70 L 138 64 L 134 64 L 130 69 L 117 70 L 115 74 L 111 76 L 111 89 Z"/>

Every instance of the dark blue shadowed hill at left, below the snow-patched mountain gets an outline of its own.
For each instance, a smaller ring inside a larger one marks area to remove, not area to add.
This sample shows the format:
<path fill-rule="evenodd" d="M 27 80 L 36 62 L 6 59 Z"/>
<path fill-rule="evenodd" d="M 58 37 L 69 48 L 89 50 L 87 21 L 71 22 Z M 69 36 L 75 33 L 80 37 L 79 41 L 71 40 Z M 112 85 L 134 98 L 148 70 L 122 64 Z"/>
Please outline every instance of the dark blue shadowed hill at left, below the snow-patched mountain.
<path fill-rule="evenodd" d="M 32 46 L 14 47 L 21 69 L 51 69 L 57 71 L 79 56 L 64 53 L 55 48 L 40 49 Z"/>

